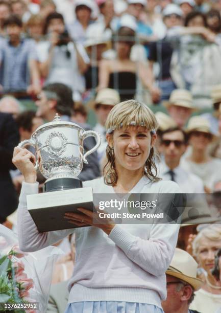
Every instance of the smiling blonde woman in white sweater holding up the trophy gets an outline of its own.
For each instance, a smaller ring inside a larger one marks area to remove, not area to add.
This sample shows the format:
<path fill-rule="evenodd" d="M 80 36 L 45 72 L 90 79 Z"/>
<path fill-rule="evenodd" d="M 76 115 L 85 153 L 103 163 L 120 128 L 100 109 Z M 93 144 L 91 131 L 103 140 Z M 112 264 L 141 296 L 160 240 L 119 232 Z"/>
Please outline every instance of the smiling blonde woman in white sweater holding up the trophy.
<path fill-rule="evenodd" d="M 154 145 L 156 118 L 135 100 L 113 107 L 107 122 L 107 165 L 104 177 L 83 183 L 100 194 L 179 193 L 174 182 L 157 177 Z M 179 225 L 176 223 L 95 225 L 93 213 L 79 208 L 64 218 L 75 226 L 39 233 L 27 210 L 26 195 L 38 192 L 35 157 L 16 147 L 13 163 L 22 172 L 18 207 L 21 250 L 35 251 L 76 233 L 75 269 L 69 282 L 66 313 L 163 312 L 166 298 L 165 271 L 173 257 Z M 90 227 L 83 227 L 90 225 Z"/>

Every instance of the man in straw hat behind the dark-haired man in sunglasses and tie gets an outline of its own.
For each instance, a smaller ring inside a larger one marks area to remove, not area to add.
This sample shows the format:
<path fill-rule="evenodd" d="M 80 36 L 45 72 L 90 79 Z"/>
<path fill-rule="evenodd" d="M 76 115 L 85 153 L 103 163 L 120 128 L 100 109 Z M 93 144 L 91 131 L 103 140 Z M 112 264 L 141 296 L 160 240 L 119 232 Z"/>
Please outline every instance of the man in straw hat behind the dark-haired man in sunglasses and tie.
<path fill-rule="evenodd" d="M 171 118 L 183 128 L 194 111 L 191 93 L 185 89 L 174 90 L 169 101 L 164 102 Z"/>

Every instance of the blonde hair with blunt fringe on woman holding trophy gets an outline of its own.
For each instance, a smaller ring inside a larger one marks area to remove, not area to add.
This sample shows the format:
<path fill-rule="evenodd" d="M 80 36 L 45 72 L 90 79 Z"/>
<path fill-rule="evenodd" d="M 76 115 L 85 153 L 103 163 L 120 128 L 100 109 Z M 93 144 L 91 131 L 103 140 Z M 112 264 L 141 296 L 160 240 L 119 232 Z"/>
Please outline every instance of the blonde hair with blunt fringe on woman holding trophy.
<path fill-rule="evenodd" d="M 108 115 L 105 127 L 108 133 L 112 133 L 115 129 L 127 128 L 130 125 L 144 126 L 152 134 L 158 128 L 158 122 L 152 110 L 142 102 L 136 100 L 127 100 L 116 104 Z M 104 181 L 107 185 L 116 186 L 118 175 L 115 168 L 115 156 L 113 149 L 109 145 L 106 148 L 106 156 L 107 163 L 104 166 Z M 157 177 L 156 156 L 155 149 L 152 147 L 144 165 L 143 174 L 151 181 L 160 180 Z"/>

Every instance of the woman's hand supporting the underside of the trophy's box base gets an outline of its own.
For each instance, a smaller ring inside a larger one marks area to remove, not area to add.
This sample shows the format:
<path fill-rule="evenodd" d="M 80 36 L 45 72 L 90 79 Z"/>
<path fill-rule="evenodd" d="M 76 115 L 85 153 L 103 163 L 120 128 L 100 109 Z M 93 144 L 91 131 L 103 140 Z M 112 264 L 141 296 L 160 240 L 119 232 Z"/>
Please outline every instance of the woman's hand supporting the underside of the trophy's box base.
<path fill-rule="evenodd" d="M 94 214 L 96 213 L 91 212 L 84 208 L 78 208 L 77 210 L 79 211 L 79 213 L 66 212 L 64 215 L 64 218 L 68 219 L 68 222 L 73 225 L 77 225 L 80 227 L 88 225 L 94 226 L 102 229 L 107 235 L 110 234 L 110 232 L 115 226 L 115 223 L 110 218 L 102 218 L 104 223 L 97 224 L 94 216 Z M 97 221 L 99 221 L 99 219 L 100 218 L 97 217 Z"/>

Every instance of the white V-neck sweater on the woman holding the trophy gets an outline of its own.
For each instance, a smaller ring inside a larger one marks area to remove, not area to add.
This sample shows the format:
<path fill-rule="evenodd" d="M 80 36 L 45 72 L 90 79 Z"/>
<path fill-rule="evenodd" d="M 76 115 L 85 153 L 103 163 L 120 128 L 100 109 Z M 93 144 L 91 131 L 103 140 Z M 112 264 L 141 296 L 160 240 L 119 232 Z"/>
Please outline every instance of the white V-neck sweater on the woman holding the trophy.
<path fill-rule="evenodd" d="M 103 177 L 83 183 L 94 193 L 114 193 Z M 23 183 L 18 207 L 20 249 L 36 251 L 76 232 L 76 265 L 68 302 L 129 301 L 161 307 L 166 298 L 165 271 L 174 255 L 179 225 L 116 225 L 109 236 L 96 227 L 39 233 L 27 210 L 26 195 L 38 184 Z M 180 193 L 170 181 L 142 177 L 130 193 Z"/>

